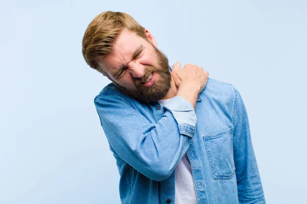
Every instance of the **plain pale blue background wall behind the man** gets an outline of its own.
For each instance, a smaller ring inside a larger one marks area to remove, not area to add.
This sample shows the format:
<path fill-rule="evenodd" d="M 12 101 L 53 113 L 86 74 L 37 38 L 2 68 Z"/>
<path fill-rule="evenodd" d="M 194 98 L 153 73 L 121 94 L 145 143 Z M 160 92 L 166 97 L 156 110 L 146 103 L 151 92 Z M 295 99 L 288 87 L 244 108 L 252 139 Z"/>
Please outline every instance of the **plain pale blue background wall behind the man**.
<path fill-rule="evenodd" d="M 306 1 L 6 1 L 0 8 L 0 203 L 120 203 L 81 54 L 106 10 L 132 15 L 172 65 L 242 94 L 268 203 L 306 201 Z"/>

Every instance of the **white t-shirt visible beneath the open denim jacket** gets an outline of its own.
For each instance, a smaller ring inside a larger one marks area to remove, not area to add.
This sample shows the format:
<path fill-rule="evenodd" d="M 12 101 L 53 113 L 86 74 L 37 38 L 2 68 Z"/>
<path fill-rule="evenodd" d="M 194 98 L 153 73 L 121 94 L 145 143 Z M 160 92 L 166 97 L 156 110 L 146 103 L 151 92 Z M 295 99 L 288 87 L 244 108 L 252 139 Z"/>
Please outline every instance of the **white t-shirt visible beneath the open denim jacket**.
<path fill-rule="evenodd" d="M 170 99 L 158 100 L 158 102 L 163 107 Z M 175 204 L 197 203 L 192 168 L 186 153 L 175 168 Z"/>

